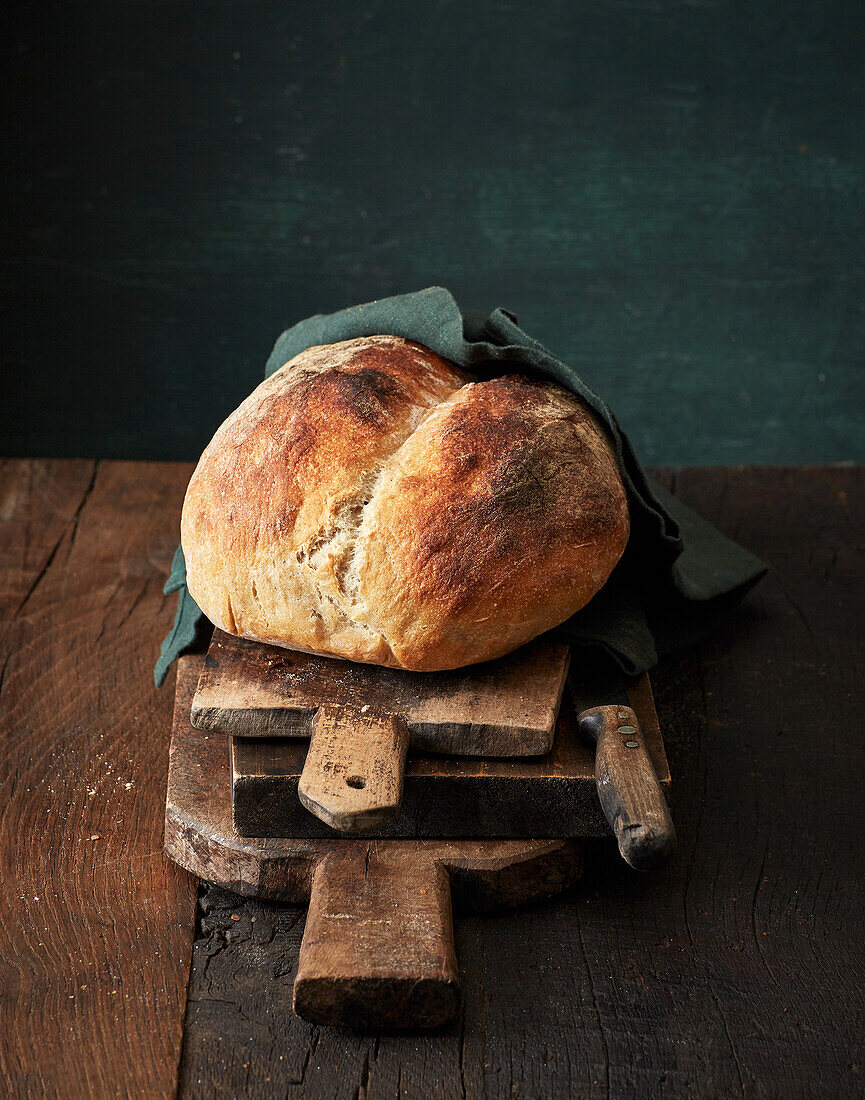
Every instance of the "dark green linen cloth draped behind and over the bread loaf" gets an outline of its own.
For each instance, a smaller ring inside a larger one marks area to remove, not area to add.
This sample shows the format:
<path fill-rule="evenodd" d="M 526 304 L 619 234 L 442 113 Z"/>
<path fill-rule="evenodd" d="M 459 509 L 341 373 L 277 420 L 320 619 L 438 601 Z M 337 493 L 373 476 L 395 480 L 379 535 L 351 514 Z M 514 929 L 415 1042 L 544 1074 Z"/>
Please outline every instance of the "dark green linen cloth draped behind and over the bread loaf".
<path fill-rule="evenodd" d="M 762 561 L 646 476 L 606 403 L 504 309 L 463 314 L 448 290 L 434 286 L 318 315 L 283 332 L 265 377 L 314 344 L 383 332 L 425 344 L 481 378 L 506 372 L 552 378 L 580 396 L 606 426 L 627 490 L 631 538 L 601 592 L 558 627 L 570 641 L 600 648 L 628 674 L 644 672 L 664 652 L 709 632 L 766 572 Z M 177 615 L 156 662 L 157 684 L 207 626 L 186 587 L 179 548 L 165 585 L 166 593 L 175 591 Z"/>

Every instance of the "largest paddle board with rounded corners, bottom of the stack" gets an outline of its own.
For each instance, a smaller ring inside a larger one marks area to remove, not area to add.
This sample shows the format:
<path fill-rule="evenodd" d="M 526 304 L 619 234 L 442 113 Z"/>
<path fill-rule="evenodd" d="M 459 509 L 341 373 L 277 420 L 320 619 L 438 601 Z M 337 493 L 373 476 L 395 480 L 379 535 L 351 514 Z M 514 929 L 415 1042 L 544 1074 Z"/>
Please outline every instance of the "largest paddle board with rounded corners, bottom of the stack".
<path fill-rule="evenodd" d="M 361 1028 L 447 1023 L 461 997 L 451 901 L 484 911 L 555 894 L 579 877 L 579 842 L 241 837 L 231 821 L 230 740 L 189 723 L 201 664 L 183 657 L 177 667 L 167 855 L 229 890 L 308 902 L 299 1015 Z"/>

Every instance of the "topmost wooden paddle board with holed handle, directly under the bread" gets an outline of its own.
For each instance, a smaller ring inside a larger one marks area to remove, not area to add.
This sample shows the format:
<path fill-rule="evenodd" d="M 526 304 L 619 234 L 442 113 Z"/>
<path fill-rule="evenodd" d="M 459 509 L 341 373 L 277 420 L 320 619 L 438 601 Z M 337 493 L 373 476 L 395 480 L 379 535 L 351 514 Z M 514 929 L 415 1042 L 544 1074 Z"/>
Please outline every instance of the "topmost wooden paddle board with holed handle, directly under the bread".
<path fill-rule="evenodd" d="M 405 672 L 213 632 L 191 705 L 198 729 L 310 738 L 296 787 L 332 828 L 368 832 L 399 811 L 413 749 L 522 757 L 550 750 L 569 649 L 538 639 L 486 664 Z"/>

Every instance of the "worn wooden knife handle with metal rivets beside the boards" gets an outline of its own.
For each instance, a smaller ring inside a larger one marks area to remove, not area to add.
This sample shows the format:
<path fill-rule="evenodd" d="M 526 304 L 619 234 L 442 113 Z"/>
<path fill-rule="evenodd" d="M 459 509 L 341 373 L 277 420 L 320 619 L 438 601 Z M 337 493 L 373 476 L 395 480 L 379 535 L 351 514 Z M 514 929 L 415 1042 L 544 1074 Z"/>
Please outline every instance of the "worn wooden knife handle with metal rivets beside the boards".
<path fill-rule="evenodd" d="M 598 745 L 598 796 L 622 858 L 638 871 L 659 867 L 676 846 L 676 829 L 636 714 L 629 706 L 595 706 L 579 721 Z"/>

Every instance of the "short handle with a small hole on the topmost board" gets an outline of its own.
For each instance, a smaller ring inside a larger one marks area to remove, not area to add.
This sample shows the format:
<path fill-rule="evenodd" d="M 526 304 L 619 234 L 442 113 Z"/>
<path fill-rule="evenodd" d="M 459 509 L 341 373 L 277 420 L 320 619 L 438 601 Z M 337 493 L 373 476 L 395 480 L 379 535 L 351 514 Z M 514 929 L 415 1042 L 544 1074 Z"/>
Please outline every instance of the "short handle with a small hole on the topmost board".
<path fill-rule="evenodd" d="M 300 802 L 340 833 L 384 825 L 399 810 L 407 750 L 401 718 L 321 707 L 297 788 Z"/>

